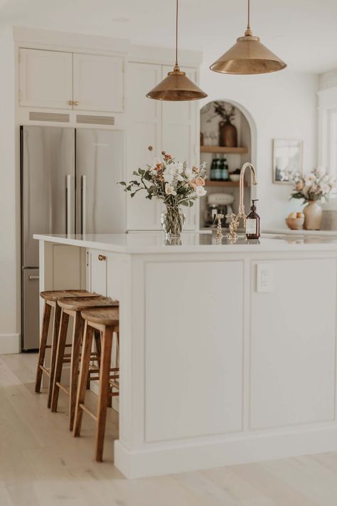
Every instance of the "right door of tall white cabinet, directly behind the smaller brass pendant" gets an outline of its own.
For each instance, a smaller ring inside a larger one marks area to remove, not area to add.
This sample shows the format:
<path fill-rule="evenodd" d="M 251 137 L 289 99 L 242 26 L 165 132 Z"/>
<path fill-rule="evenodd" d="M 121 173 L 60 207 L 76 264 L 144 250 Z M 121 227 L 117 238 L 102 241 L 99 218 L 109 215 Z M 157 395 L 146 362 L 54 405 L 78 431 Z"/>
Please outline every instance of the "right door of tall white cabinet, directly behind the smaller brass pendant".
<path fill-rule="evenodd" d="M 161 78 L 164 79 L 171 67 L 163 67 Z M 182 68 L 188 78 L 196 81 L 196 70 Z M 171 154 L 179 162 L 186 161 L 188 166 L 198 163 L 196 144 L 198 142 L 198 126 L 196 122 L 198 101 L 162 102 L 162 149 Z M 193 207 L 183 207 L 186 214 L 185 229 L 196 228 L 198 201 Z"/>

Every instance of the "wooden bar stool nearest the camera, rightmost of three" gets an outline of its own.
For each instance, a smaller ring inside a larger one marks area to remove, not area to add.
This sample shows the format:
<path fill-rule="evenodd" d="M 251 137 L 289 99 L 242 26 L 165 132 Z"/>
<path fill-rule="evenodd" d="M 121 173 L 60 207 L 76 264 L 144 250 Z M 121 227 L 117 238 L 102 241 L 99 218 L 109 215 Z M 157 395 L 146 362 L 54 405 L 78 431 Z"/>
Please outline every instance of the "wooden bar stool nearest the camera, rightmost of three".
<path fill-rule="evenodd" d="M 109 398 L 110 396 L 119 394 L 119 391 L 114 393 L 111 391 L 111 387 L 119 390 L 119 367 L 111 367 L 112 340 L 114 339 L 114 335 L 117 334 L 118 336 L 119 332 L 119 308 L 82 311 L 82 318 L 85 320 L 85 333 L 82 344 L 80 378 L 76 398 L 74 437 L 80 436 L 82 413 L 85 411 L 96 421 L 95 460 L 102 462 L 105 422 Z M 102 355 L 100 361 L 97 412 L 93 413 L 85 406 L 84 402 L 87 376 L 89 374 L 92 337 L 95 330 L 99 330 L 102 335 Z"/>

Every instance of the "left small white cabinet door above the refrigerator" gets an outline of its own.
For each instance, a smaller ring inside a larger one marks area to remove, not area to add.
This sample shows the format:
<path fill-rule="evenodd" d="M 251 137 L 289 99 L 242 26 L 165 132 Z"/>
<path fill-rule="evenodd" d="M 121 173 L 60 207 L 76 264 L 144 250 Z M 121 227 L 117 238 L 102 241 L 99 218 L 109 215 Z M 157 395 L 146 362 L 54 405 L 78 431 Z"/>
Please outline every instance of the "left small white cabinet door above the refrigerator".
<path fill-rule="evenodd" d="M 21 106 L 73 108 L 72 53 L 21 48 L 19 58 Z"/>

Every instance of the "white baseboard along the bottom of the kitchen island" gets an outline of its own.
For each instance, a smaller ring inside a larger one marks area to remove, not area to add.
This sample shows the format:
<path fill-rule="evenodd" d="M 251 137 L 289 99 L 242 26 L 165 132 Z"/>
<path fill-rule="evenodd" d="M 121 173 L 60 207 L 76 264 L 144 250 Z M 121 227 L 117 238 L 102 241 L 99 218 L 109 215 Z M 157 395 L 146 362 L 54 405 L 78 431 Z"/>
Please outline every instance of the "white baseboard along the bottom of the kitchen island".
<path fill-rule="evenodd" d="M 114 442 L 114 465 L 129 479 L 262 462 L 337 450 L 337 427 L 131 451 Z"/>

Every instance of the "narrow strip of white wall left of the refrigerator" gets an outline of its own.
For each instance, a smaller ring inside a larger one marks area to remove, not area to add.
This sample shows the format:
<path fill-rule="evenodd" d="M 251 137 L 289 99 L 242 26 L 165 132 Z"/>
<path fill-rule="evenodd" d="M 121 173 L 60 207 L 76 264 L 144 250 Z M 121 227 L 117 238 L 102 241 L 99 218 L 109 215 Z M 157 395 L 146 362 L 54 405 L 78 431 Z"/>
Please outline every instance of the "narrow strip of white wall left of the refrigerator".
<path fill-rule="evenodd" d="M 19 349 L 20 242 L 15 164 L 14 41 L 0 25 L 0 353 Z"/>

